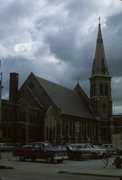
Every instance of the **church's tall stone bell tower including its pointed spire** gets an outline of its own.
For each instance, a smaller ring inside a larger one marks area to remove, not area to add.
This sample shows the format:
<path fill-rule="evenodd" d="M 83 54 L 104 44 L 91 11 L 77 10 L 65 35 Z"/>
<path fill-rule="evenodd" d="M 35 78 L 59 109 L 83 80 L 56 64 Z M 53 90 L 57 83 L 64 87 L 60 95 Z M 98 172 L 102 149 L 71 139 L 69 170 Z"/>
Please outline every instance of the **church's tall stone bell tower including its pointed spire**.
<path fill-rule="evenodd" d="M 107 67 L 100 22 L 89 80 L 90 102 L 98 118 L 98 143 L 110 143 L 112 122 L 111 76 Z"/>

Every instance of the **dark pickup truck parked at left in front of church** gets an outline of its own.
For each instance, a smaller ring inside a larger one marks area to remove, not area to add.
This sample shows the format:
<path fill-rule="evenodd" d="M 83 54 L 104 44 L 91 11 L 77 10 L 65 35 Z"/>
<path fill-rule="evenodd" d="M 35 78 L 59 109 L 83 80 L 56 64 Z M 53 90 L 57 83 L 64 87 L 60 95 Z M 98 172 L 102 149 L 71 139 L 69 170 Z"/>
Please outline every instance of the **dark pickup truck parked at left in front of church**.
<path fill-rule="evenodd" d="M 13 150 L 13 156 L 19 156 L 20 161 L 31 159 L 44 159 L 47 163 L 58 162 L 68 159 L 66 151 L 58 147 L 52 147 L 48 142 L 34 142 Z"/>

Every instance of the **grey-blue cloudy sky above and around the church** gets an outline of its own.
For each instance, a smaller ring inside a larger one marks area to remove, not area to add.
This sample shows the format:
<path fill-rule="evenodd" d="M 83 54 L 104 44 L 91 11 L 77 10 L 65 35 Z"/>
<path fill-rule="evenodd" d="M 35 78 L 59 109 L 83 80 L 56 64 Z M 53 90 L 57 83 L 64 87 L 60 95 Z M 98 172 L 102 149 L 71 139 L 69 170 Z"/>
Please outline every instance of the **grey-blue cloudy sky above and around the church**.
<path fill-rule="evenodd" d="M 0 0 L 0 58 L 4 98 L 10 72 L 19 84 L 30 72 L 89 95 L 98 17 L 112 78 L 113 112 L 122 113 L 122 1 Z"/>

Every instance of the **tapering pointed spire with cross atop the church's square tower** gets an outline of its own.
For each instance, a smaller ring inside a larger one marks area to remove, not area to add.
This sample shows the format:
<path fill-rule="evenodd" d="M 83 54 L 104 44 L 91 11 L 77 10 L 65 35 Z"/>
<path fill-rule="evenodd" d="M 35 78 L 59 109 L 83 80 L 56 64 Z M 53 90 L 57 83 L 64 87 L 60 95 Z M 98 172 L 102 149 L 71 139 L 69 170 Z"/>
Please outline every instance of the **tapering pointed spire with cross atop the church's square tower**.
<path fill-rule="evenodd" d="M 100 19 L 101 18 L 99 17 L 96 52 L 92 67 L 92 76 L 110 76 L 106 63 Z"/>

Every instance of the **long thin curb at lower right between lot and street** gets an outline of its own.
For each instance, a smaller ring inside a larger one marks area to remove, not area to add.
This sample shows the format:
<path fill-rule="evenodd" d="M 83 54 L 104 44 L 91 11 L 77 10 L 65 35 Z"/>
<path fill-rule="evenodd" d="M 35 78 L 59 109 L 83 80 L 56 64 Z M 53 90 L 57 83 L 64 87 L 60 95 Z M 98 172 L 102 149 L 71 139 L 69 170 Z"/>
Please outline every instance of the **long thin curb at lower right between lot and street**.
<path fill-rule="evenodd" d="M 87 175 L 87 176 L 100 176 L 100 177 L 111 177 L 111 178 L 120 178 L 122 180 L 122 176 L 117 175 L 108 175 L 108 174 L 95 174 L 95 173 L 80 173 L 80 172 L 69 172 L 69 171 L 59 171 L 59 173 L 64 174 L 74 174 L 74 175 Z"/>

